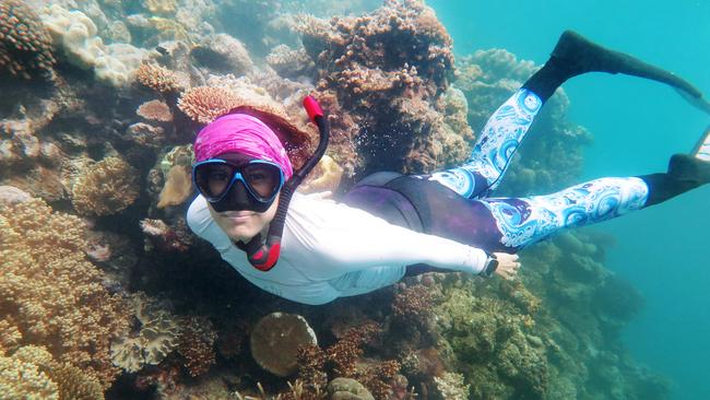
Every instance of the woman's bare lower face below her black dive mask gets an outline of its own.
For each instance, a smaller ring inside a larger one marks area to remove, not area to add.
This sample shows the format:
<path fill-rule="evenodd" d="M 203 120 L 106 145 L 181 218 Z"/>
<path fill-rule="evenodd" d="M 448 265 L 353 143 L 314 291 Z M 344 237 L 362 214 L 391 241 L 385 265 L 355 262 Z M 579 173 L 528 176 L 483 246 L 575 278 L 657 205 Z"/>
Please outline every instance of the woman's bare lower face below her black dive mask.
<path fill-rule="evenodd" d="M 279 197 L 264 212 L 249 210 L 216 212 L 208 202 L 208 209 L 214 222 L 235 242 L 248 243 L 257 234 L 264 231 L 276 214 Z"/>

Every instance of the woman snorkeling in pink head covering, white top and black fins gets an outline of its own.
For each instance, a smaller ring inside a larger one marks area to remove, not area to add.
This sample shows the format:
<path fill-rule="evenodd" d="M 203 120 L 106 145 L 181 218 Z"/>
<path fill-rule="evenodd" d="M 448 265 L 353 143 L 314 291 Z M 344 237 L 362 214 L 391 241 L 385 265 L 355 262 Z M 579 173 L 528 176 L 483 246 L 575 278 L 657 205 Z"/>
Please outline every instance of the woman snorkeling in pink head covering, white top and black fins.
<path fill-rule="evenodd" d="M 530 244 L 710 181 L 708 130 L 690 154 L 671 157 L 666 173 L 601 178 L 547 196 L 489 198 L 549 96 L 568 79 L 593 71 L 660 81 L 707 105 L 678 77 L 565 32 L 544 67 L 487 121 L 469 162 L 430 175 L 377 173 L 340 202 L 292 193 L 303 169 L 292 178 L 276 133 L 296 128 L 240 107 L 196 139 L 193 179 L 201 196 L 188 211 L 189 226 L 251 283 L 304 304 L 433 270 L 513 279 L 520 268 L 514 254 Z M 322 114 L 312 105 L 309 114 L 326 134 Z M 327 136 L 322 150 L 323 143 Z"/>

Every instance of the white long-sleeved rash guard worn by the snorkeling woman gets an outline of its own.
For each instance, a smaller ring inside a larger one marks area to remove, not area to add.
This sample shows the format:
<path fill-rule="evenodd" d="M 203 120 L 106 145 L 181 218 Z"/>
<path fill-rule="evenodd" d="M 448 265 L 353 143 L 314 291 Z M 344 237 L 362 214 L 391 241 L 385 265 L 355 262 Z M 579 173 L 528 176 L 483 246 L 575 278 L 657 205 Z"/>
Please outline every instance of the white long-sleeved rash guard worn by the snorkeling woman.
<path fill-rule="evenodd" d="M 244 278 L 274 295 L 310 305 L 395 283 L 406 266 L 480 273 L 486 254 L 475 247 L 392 225 L 363 210 L 295 193 L 275 267 L 253 268 L 212 220 L 199 196 L 188 210 L 192 232 L 210 242 Z"/>

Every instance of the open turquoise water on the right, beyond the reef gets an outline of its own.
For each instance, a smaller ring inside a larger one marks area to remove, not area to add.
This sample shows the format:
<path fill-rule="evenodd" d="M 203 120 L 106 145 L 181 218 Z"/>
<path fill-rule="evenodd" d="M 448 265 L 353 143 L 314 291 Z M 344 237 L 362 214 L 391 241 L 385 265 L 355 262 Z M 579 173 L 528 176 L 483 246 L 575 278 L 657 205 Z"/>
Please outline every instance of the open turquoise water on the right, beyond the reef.
<path fill-rule="evenodd" d="M 662 66 L 710 94 L 710 2 L 429 1 L 459 55 L 499 47 L 545 61 L 573 28 Z M 570 119 L 594 134 L 582 179 L 665 169 L 688 151 L 710 116 L 672 90 L 640 79 L 588 74 L 565 84 Z M 480 127 L 474 127 L 480 128 Z M 613 233 L 607 267 L 632 282 L 646 308 L 625 332 L 635 357 L 674 381 L 674 399 L 710 398 L 710 187 L 597 225 Z"/>

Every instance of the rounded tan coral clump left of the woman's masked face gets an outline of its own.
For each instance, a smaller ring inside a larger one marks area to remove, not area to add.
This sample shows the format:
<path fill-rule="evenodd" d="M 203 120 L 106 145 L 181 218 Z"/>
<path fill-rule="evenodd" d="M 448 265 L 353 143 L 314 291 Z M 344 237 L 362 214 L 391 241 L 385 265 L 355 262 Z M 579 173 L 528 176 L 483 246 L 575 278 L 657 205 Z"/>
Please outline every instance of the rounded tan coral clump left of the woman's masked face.
<path fill-rule="evenodd" d="M 138 172 L 110 156 L 83 169 L 72 187 L 72 204 L 84 215 L 109 215 L 125 210 L 138 197 Z"/>

